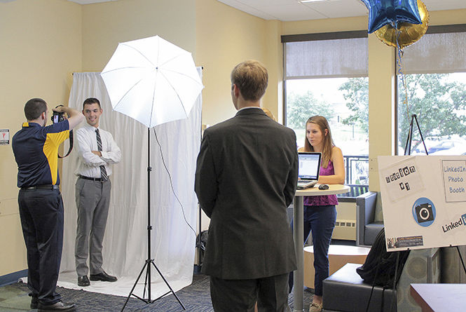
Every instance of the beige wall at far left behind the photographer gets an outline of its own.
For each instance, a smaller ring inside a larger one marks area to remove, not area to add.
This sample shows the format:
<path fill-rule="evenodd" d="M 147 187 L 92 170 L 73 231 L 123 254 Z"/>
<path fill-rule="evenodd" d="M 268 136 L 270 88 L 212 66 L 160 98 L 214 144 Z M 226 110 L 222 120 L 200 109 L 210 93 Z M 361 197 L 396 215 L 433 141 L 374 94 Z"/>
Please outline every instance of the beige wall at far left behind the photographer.
<path fill-rule="evenodd" d="M 70 1 L 0 3 L 0 128 L 10 136 L 25 121 L 24 104 L 42 97 L 67 104 L 71 72 L 81 68 L 81 6 Z M 11 138 L 10 137 L 10 138 Z M 17 166 L 0 146 L 0 276 L 27 268 L 18 214 Z"/>

